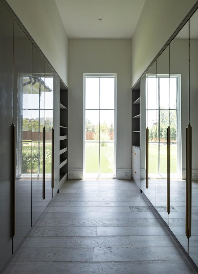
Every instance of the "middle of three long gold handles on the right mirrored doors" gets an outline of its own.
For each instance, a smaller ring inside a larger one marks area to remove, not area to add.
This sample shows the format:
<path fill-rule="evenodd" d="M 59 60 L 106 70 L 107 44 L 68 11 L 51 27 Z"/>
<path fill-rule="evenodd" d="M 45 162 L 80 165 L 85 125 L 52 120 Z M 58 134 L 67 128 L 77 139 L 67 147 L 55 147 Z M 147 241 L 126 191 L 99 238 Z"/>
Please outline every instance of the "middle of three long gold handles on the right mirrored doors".
<path fill-rule="evenodd" d="M 167 212 L 170 214 L 170 126 L 167 128 Z"/>

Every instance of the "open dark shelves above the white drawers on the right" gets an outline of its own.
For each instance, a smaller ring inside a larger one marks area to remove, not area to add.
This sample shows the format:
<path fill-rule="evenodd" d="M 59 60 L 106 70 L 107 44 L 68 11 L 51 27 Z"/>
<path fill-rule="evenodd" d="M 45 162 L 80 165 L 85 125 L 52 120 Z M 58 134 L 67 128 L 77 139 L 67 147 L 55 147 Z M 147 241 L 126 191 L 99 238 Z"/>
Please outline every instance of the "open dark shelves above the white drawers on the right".
<path fill-rule="evenodd" d="M 140 148 L 140 81 L 132 89 L 132 146 Z"/>

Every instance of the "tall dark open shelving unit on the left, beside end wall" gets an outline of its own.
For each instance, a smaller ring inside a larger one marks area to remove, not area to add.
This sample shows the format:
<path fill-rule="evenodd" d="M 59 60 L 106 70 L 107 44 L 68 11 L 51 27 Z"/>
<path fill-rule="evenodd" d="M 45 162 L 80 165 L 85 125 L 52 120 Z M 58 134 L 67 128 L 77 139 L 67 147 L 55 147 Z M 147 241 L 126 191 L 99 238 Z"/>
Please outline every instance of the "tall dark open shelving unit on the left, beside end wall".
<path fill-rule="evenodd" d="M 60 82 L 59 187 L 67 180 L 67 89 Z"/>

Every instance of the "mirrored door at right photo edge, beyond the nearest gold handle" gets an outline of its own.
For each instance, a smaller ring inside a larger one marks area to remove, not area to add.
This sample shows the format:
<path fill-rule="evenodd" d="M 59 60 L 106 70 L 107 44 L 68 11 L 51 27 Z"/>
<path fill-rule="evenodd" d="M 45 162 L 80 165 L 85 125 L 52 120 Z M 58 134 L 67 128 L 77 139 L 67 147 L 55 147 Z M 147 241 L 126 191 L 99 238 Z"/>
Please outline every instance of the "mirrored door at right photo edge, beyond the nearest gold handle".
<path fill-rule="evenodd" d="M 192 15 L 189 24 L 190 45 L 190 116 L 192 127 L 192 231 L 189 238 L 189 255 L 198 265 L 198 11 Z"/>

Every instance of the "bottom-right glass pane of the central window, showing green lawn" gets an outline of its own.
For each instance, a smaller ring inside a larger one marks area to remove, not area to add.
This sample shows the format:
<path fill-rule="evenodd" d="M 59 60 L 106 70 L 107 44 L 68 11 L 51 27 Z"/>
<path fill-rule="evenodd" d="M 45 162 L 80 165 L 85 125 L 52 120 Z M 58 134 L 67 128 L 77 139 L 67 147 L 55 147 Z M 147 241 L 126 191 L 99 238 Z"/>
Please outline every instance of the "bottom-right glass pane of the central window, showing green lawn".
<path fill-rule="evenodd" d="M 114 143 L 100 143 L 100 171 L 114 173 Z"/>

